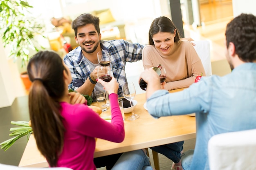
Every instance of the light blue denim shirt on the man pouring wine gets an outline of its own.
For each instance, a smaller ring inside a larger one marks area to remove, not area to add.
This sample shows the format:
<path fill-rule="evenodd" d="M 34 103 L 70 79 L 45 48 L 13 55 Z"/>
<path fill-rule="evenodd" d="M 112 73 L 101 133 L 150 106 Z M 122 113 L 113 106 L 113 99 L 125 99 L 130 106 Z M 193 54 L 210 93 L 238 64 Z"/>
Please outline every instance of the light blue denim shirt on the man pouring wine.
<path fill-rule="evenodd" d="M 256 64 L 242 64 L 223 77 L 202 77 L 181 92 L 156 91 L 147 108 L 156 118 L 196 113 L 190 170 L 209 170 L 207 145 L 213 135 L 256 128 Z"/>

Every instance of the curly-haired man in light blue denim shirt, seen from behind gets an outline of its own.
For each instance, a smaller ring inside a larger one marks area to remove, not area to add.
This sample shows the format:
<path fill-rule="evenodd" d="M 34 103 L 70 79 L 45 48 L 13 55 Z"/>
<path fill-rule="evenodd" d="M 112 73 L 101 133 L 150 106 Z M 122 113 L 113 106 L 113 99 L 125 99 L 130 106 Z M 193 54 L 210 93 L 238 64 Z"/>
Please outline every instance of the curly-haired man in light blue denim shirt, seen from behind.
<path fill-rule="evenodd" d="M 184 170 L 209 170 L 207 146 L 213 135 L 256 128 L 256 16 L 237 16 L 225 35 L 228 75 L 202 77 L 177 93 L 162 90 L 153 69 L 140 75 L 148 83 L 147 108 L 153 117 L 196 113 L 195 150 L 182 157 Z"/>

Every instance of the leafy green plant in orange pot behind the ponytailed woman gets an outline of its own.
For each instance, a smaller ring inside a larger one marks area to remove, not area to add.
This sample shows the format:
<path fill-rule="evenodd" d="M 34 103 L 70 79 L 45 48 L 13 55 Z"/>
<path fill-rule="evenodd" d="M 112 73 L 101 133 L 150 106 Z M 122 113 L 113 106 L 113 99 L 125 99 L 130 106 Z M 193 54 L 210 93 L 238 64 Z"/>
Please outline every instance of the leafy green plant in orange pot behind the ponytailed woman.
<path fill-rule="evenodd" d="M 26 66 L 33 53 L 44 49 L 36 41 L 36 36 L 43 36 L 45 24 L 33 17 L 29 9 L 33 8 L 26 0 L 0 1 L 0 35 L 4 48 L 9 48 L 9 57 L 20 67 Z M 44 37 L 44 36 L 43 36 Z M 21 77 L 29 80 L 25 73 Z M 27 77 L 27 78 L 26 78 Z M 26 82 L 23 81 L 24 83 Z M 28 81 L 31 84 L 30 81 Z M 29 85 L 25 85 L 29 88 Z"/>

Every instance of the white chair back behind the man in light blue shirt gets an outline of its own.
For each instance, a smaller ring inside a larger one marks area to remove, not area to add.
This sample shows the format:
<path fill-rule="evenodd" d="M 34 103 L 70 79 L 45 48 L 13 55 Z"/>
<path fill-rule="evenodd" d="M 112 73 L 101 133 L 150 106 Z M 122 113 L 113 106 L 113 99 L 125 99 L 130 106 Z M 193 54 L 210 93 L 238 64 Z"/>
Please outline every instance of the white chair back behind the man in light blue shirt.
<path fill-rule="evenodd" d="M 256 129 L 227 132 L 208 143 L 210 170 L 255 170 Z"/>

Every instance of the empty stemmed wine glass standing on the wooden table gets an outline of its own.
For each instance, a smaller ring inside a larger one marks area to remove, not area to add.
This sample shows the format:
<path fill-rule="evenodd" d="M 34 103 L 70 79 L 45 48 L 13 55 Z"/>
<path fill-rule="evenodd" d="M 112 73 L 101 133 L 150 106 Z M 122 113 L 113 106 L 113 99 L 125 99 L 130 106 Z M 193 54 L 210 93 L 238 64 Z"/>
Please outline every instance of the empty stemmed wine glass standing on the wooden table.
<path fill-rule="evenodd" d="M 135 97 L 136 91 L 133 82 L 125 82 L 122 86 L 124 97 L 130 101 L 130 105 L 132 108 L 132 99 Z M 135 115 L 132 108 L 132 115 L 128 117 L 128 120 L 138 119 L 139 115 Z"/>

